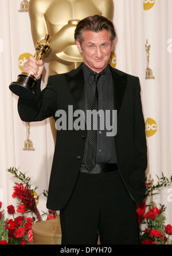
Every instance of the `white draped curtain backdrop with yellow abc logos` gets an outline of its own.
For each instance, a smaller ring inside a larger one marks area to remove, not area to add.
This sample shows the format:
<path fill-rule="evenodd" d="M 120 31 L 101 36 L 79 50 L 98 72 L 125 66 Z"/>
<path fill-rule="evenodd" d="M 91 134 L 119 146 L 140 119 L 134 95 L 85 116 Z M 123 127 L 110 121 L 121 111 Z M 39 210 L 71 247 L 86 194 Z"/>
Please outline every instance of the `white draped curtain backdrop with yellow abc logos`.
<path fill-rule="evenodd" d="M 11 197 L 14 182 L 6 169 L 14 166 L 26 172 L 40 194 L 48 189 L 54 150 L 49 120 L 30 124 L 30 139 L 35 150 L 23 150 L 26 124 L 18 116 L 18 97 L 9 90 L 11 81 L 16 81 L 22 63 L 27 59 L 26 53 L 33 55 L 35 52 L 29 13 L 19 12 L 21 2 L 0 0 L 0 201 L 4 209 L 9 204 L 15 205 Z M 140 78 L 148 146 L 146 173 L 151 174 L 154 181 L 156 174 L 161 176 L 163 171 L 170 177 L 172 170 L 171 12 L 172 0 L 114 0 L 114 25 L 118 35 L 116 68 Z M 145 77 L 146 40 L 151 45 L 150 68 L 155 79 Z M 164 189 L 154 201 L 167 206 L 166 223 L 172 224 L 172 194 L 170 196 L 169 190 Z M 40 198 L 38 209 L 46 210 L 44 197 Z"/>

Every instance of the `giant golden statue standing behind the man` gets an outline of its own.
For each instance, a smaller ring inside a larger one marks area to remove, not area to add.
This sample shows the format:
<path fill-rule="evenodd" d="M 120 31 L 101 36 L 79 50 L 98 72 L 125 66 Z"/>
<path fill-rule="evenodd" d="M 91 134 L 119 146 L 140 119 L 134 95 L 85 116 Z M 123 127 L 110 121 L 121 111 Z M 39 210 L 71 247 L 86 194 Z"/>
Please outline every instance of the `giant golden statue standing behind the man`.
<path fill-rule="evenodd" d="M 29 16 L 34 44 L 46 33 L 50 34 L 51 48 L 44 56 L 44 61 L 49 63 L 49 75 L 69 72 L 83 62 L 75 44 L 74 32 L 80 20 L 95 14 L 112 21 L 113 0 L 30 0 Z M 55 143 L 53 117 L 50 117 L 50 127 Z"/>

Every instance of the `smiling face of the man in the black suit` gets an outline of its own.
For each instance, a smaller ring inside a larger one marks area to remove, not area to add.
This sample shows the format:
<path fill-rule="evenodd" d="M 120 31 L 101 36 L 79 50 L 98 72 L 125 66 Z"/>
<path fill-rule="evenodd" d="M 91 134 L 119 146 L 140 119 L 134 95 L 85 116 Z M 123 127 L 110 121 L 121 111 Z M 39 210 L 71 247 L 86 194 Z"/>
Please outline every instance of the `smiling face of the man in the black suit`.
<path fill-rule="evenodd" d="M 83 43 L 80 45 L 76 40 L 77 48 L 83 55 L 84 63 L 93 71 L 99 73 L 108 64 L 111 51 L 114 47 L 114 40 L 110 40 L 110 32 L 102 30 L 93 32 L 85 30 L 83 32 Z"/>

